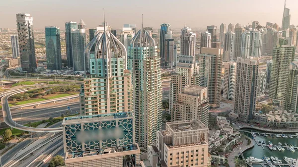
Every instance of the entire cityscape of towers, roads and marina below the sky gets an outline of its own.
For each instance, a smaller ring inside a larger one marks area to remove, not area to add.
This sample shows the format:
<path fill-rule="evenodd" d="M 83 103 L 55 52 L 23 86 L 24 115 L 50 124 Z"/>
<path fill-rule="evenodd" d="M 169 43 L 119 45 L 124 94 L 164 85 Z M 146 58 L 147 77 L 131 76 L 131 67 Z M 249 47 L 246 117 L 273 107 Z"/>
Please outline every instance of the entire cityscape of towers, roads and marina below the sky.
<path fill-rule="evenodd" d="M 88 29 L 80 19 L 34 30 L 29 13 L 0 28 L 0 166 L 298 167 L 298 26 L 286 1 L 281 26 L 204 30 L 156 30 L 143 15 L 113 29 L 104 10 Z"/>

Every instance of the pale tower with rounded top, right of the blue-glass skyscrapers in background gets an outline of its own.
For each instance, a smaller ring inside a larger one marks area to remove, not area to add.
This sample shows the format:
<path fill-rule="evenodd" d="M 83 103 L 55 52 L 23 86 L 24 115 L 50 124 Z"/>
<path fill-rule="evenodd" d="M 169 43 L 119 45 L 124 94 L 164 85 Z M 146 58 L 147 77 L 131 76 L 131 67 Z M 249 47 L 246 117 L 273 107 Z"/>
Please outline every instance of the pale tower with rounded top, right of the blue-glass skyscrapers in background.
<path fill-rule="evenodd" d="M 185 27 L 180 34 L 180 55 L 195 56 L 196 51 L 196 33 L 191 28 Z"/>

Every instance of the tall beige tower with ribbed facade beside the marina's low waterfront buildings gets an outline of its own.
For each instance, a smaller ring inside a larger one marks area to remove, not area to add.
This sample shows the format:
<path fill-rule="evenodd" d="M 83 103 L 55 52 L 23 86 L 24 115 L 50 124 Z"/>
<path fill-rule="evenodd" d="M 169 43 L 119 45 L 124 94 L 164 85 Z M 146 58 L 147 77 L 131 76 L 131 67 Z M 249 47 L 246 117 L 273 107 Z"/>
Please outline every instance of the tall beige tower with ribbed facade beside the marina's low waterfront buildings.
<path fill-rule="evenodd" d="M 253 119 L 257 96 L 259 60 L 257 57 L 237 58 L 234 112 L 238 119 Z"/>

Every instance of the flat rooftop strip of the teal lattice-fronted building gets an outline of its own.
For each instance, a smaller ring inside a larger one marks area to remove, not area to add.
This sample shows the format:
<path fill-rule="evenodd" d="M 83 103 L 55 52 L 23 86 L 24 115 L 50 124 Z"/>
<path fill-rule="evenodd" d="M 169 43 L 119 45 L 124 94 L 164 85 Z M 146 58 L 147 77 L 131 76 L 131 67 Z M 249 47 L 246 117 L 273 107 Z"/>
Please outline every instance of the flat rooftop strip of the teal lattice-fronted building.
<path fill-rule="evenodd" d="M 62 124 L 73 124 L 73 123 L 85 123 L 85 122 L 95 122 L 102 120 L 111 120 L 117 118 L 129 118 L 133 117 L 132 112 L 118 112 L 118 113 L 106 113 L 97 115 L 83 115 L 83 116 L 71 116 L 65 117 Z"/>

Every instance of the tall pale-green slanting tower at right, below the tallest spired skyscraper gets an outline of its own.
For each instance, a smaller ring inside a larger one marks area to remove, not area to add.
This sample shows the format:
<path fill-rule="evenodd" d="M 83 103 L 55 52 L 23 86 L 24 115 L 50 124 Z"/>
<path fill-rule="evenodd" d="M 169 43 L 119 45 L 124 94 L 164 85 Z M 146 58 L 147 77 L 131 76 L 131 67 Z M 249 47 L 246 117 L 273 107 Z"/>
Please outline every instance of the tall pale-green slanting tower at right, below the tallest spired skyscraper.
<path fill-rule="evenodd" d="M 286 83 L 289 79 L 290 63 L 295 58 L 295 46 L 277 45 L 273 49 L 272 71 L 270 74 L 269 98 L 280 103 L 286 99 Z"/>

